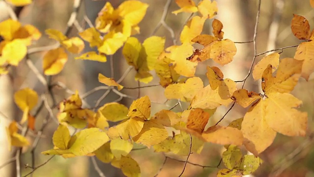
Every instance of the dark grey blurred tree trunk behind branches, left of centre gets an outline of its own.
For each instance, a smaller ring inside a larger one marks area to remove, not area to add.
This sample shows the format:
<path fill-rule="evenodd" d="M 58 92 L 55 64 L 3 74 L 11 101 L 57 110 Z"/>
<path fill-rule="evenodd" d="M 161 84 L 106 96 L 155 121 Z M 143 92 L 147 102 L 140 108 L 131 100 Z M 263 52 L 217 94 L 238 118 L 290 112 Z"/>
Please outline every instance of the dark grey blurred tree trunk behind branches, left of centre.
<path fill-rule="evenodd" d="M 110 1 L 110 0 L 109 0 Z M 104 7 L 106 1 L 95 1 L 95 0 L 85 0 L 85 9 L 86 9 L 86 15 L 90 19 L 92 23 L 95 22 L 95 19 L 97 17 L 98 12 Z M 110 3 L 117 7 L 118 1 L 111 0 Z M 91 51 L 88 47 L 89 45 L 85 45 L 85 51 Z M 116 56 L 116 55 L 115 55 Z M 109 58 L 109 56 L 108 56 Z M 85 91 L 91 90 L 97 86 L 101 86 L 98 82 L 98 74 L 102 73 L 103 75 L 107 77 L 111 77 L 111 68 L 110 68 L 110 60 L 108 59 L 107 62 L 101 63 L 101 62 L 95 62 L 95 61 L 84 61 L 83 63 L 84 67 L 84 73 L 83 73 L 83 81 L 85 84 Z M 89 96 L 87 98 L 87 103 L 91 106 L 94 106 L 96 101 L 104 94 L 105 91 L 98 91 L 94 93 L 93 95 Z M 102 104 L 106 102 L 112 102 L 115 99 L 117 99 L 118 96 L 114 94 L 113 92 L 109 93 Z M 89 170 L 89 176 L 90 177 L 98 177 L 99 174 L 95 170 L 95 166 L 93 165 L 92 161 L 90 160 L 90 170 Z M 124 177 L 120 169 L 117 169 L 111 164 L 105 164 L 103 162 L 100 162 L 97 160 L 97 164 L 99 168 L 104 173 L 105 177 Z"/>

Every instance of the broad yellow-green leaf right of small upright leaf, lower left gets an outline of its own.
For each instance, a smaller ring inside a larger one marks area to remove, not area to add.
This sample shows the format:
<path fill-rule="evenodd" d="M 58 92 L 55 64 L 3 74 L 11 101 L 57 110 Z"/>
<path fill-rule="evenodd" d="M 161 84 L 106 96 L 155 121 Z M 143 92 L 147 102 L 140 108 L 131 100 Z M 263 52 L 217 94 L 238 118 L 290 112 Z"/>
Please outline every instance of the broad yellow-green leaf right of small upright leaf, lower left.
<path fill-rule="evenodd" d="M 86 155 L 95 151 L 109 141 L 109 137 L 99 128 L 88 128 L 79 132 L 69 150 L 76 156 Z"/>

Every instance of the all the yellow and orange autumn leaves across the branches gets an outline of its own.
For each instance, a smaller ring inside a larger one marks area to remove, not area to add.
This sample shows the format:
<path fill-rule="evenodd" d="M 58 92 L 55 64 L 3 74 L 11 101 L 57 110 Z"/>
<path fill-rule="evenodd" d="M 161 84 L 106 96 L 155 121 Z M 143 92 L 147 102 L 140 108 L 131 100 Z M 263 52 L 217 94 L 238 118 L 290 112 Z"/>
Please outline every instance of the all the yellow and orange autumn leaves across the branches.
<path fill-rule="evenodd" d="M 226 169 L 220 170 L 218 176 L 241 176 L 251 174 L 259 167 L 262 163 L 259 153 L 272 144 L 277 132 L 287 136 L 306 135 L 307 113 L 297 110 L 302 101 L 290 91 L 300 77 L 308 80 L 314 71 L 314 32 L 310 33 L 308 21 L 294 15 L 292 32 L 298 39 L 306 41 L 300 43 L 293 58 L 280 59 L 278 53 L 262 58 L 252 73 L 254 80 L 262 80 L 262 93 L 249 92 L 238 89 L 232 79 L 224 79 L 222 71 L 215 66 L 207 66 L 208 83 L 204 84 L 195 76 L 199 62 L 212 59 L 225 65 L 236 54 L 235 43 L 224 39 L 223 24 L 219 20 L 212 21 L 213 35 L 201 34 L 205 21 L 217 14 L 217 2 L 202 0 L 195 5 L 193 0 L 176 0 L 176 3 L 180 9 L 174 14 L 198 12 L 199 15 L 184 26 L 180 35 L 181 45 L 166 49 L 163 37 L 151 36 L 143 43 L 131 37 L 139 33 L 138 24 L 148 8 L 148 4 L 138 0 L 124 1 L 117 9 L 106 2 L 95 28 L 79 32 L 80 38 L 69 38 L 55 29 L 46 30 L 46 34 L 60 46 L 45 54 L 45 75 L 60 73 L 68 59 L 66 51 L 79 54 L 84 49 L 83 40 L 96 47 L 97 52 L 87 52 L 75 59 L 105 62 L 107 55 L 113 55 L 123 47 L 123 56 L 136 71 L 136 81 L 151 82 L 151 72 L 155 71 L 160 85 L 165 88 L 165 97 L 187 102 L 190 106 L 182 112 L 161 110 L 151 115 L 151 101 L 148 96 L 143 96 L 134 100 L 129 108 L 111 102 L 95 111 L 83 108 L 76 92 L 59 104 L 57 119 L 60 124 L 53 134 L 54 148 L 43 154 L 62 155 L 64 158 L 96 156 L 104 163 L 121 168 L 126 176 L 135 177 L 140 175 L 140 169 L 130 155 L 134 143 L 154 148 L 156 152 L 178 155 L 200 153 L 205 143 L 215 143 L 226 148 L 222 157 Z M 22 27 L 14 20 L 0 23 L 0 35 L 3 38 L 0 42 L 1 74 L 8 72 L 9 65 L 18 65 L 26 56 L 26 47 L 41 36 L 35 27 Z M 194 49 L 194 43 L 204 47 Z M 102 74 L 99 74 L 99 81 L 111 89 L 124 88 L 113 78 Z M 31 89 L 15 93 L 15 102 L 24 112 L 21 123 L 28 120 L 32 129 L 35 120 L 29 111 L 36 106 L 37 100 L 37 93 Z M 229 126 L 207 126 L 218 107 L 232 103 L 250 107 L 244 118 L 235 119 Z M 108 121 L 119 123 L 109 127 Z M 71 136 L 67 126 L 82 130 Z M 26 138 L 17 133 L 17 122 L 12 122 L 7 130 L 11 146 L 29 145 Z M 239 148 L 242 145 L 254 155 L 243 156 Z"/>

